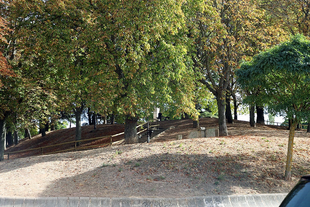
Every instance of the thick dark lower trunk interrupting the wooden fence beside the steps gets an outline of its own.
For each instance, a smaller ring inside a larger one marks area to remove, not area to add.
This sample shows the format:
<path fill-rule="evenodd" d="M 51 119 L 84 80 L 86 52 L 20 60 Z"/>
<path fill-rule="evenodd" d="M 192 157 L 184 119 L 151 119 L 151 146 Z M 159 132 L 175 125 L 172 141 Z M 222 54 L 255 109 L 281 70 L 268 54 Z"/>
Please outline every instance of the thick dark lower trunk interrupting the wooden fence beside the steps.
<path fill-rule="evenodd" d="M 137 118 L 127 117 L 125 120 L 125 143 L 124 144 L 136 144 L 138 143 L 137 134 Z"/>

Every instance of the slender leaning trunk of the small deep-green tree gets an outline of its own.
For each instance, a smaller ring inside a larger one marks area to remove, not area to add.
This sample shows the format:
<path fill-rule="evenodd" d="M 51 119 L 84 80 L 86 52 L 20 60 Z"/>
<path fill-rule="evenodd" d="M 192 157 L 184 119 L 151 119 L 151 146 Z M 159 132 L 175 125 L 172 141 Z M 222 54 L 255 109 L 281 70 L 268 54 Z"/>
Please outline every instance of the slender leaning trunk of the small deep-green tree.
<path fill-rule="evenodd" d="M 284 180 L 290 181 L 291 169 L 292 169 L 292 158 L 293 158 L 293 145 L 294 145 L 294 134 L 295 128 L 297 126 L 298 120 L 292 119 L 292 124 L 290 127 L 290 134 L 289 134 L 289 143 L 287 146 L 287 156 L 286 156 L 286 167 L 285 167 L 285 174 Z"/>

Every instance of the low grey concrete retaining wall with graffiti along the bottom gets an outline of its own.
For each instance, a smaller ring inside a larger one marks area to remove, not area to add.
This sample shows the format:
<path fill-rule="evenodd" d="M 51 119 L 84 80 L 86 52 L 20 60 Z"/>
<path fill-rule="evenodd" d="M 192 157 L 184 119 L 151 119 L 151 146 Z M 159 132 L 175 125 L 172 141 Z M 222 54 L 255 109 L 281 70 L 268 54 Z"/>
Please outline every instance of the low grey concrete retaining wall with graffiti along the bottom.
<path fill-rule="evenodd" d="M 286 194 L 188 198 L 0 197 L 0 207 L 278 207 Z"/>

